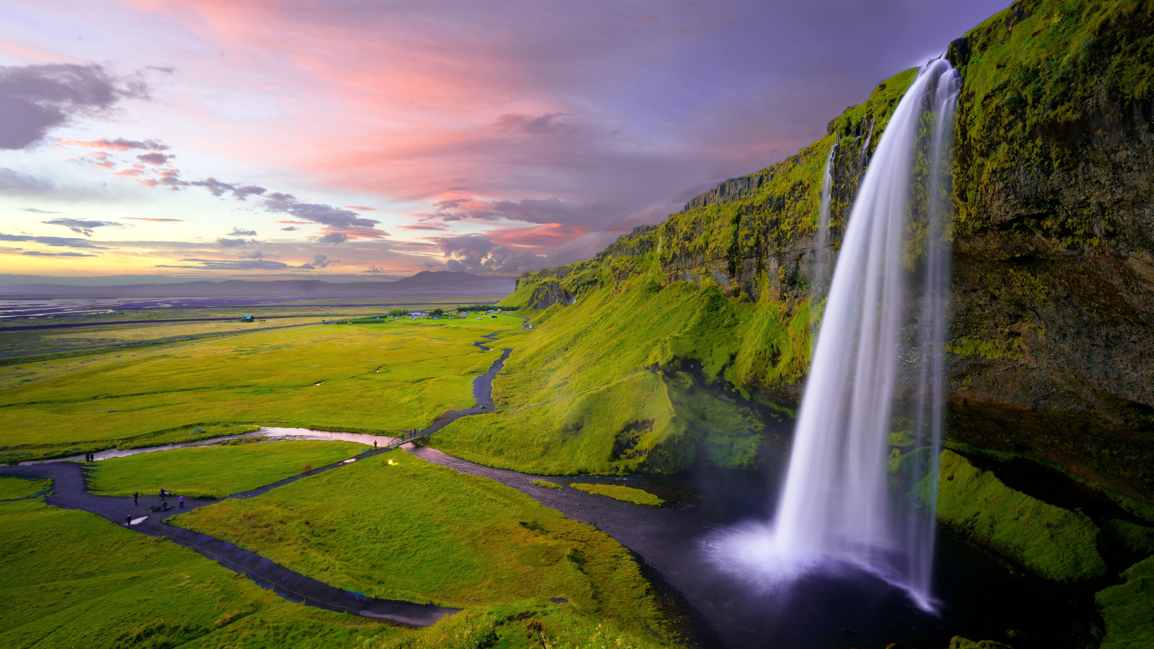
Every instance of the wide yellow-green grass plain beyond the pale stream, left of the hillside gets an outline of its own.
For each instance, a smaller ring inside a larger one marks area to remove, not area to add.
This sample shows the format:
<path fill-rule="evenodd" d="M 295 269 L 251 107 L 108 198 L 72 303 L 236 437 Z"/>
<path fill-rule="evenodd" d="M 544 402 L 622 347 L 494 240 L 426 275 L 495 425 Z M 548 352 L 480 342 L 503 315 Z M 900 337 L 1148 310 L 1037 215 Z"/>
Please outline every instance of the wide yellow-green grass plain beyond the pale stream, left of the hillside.
<path fill-rule="evenodd" d="M 5 367 L 0 456 L 164 443 L 222 423 L 424 427 L 472 405 L 471 382 L 496 355 L 471 343 L 520 322 L 309 326 Z"/>

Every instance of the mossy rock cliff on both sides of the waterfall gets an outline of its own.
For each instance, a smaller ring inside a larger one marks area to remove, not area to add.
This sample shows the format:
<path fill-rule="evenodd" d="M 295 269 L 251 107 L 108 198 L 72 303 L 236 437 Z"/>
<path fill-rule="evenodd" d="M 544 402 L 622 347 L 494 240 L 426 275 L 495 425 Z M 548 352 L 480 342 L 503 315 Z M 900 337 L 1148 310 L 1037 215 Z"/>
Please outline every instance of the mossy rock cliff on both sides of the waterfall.
<path fill-rule="evenodd" d="M 1074 13 L 1019 0 L 947 54 L 964 77 L 947 434 L 1146 502 L 1154 502 L 1152 51 L 1149 2 Z M 621 281 L 639 273 L 638 259 L 655 256 L 667 282 L 775 300 L 788 318 L 810 297 L 830 148 L 838 142 L 837 249 L 869 156 L 914 74 L 879 84 L 796 156 L 727 180 L 594 260 L 526 274 L 515 296 L 532 285 L 538 305 L 579 299 L 583 282 L 605 281 L 593 268 Z M 800 395 L 797 380 L 742 387 Z"/>

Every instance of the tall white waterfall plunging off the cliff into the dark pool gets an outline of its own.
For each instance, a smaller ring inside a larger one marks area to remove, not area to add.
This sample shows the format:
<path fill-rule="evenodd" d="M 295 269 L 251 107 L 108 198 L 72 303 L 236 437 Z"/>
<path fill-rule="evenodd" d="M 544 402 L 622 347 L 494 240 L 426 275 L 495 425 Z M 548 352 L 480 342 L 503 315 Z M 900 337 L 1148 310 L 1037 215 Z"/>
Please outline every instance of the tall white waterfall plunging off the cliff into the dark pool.
<path fill-rule="evenodd" d="M 861 179 L 773 521 L 704 542 L 718 567 L 763 591 L 788 589 L 803 575 L 864 570 L 920 609 L 936 607 L 950 273 L 950 174 L 942 170 L 958 85 L 945 60 L 921 68 Z M 822 207 L 829 209 L 824 195 Z M 827 246 L 827 232 L 816 240 Z"/>

